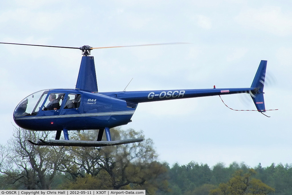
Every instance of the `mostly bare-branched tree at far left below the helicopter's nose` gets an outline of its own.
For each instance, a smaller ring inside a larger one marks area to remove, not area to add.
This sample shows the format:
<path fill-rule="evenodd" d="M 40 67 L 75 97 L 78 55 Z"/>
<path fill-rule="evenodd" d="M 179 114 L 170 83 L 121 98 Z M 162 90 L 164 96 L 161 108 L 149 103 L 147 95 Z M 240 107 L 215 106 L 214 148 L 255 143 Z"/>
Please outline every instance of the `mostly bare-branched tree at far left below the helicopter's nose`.
<path fill-rule="evenodd" d="M 48 139 L 50 133 L 15 128 L 8 146 L 1 146 L 0 171 L 26 189 L 51 189 L 70 157 L 64 147 L 35 146 L 27 140 Z"/>

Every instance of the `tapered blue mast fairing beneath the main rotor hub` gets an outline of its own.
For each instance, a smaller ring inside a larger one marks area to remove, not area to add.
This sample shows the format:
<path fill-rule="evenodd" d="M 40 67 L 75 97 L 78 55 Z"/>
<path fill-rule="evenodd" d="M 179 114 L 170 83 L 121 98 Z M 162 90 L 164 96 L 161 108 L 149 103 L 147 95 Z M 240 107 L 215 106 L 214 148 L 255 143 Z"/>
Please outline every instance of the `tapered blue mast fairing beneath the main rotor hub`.
<path fill-rule="evenodd" d="M 97 81 L 93 56 L 83 56 L 81 59 L 76 89 L 97 92 Z"/>

